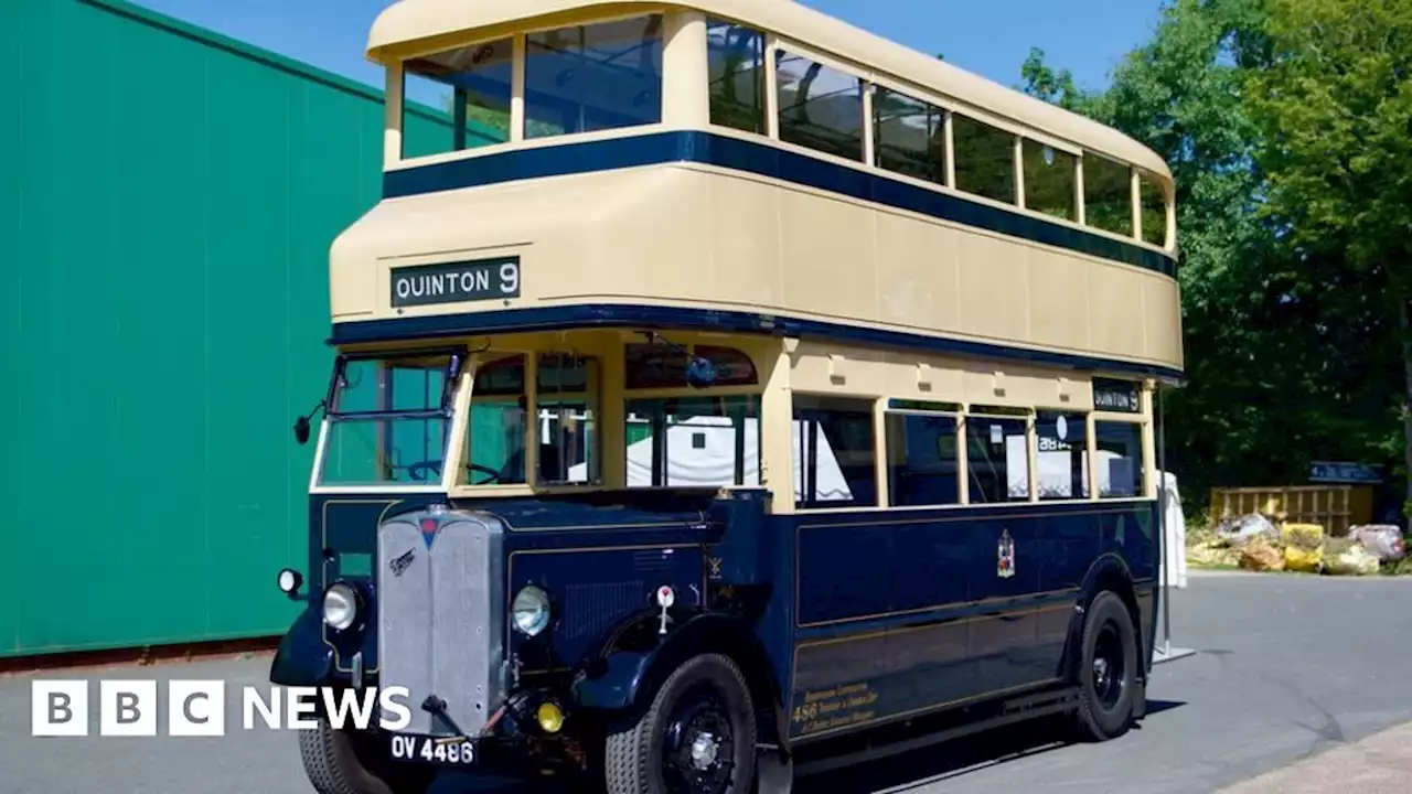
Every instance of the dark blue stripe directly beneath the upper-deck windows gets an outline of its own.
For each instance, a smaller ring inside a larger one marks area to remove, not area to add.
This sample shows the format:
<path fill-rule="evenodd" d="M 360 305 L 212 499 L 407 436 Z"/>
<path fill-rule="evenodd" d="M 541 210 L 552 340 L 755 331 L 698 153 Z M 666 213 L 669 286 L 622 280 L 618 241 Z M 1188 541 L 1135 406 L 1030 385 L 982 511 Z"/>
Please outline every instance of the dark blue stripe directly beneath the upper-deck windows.
<path fill-rule="evenodd" d="M 699 162 L 770 177 L 1176 277 L 1176 259 L 1135 243 L 911 185 L 885 171 L 864 171 L 861 162 L 858 168 L 850 168 L 785 151 L 765 138 L 747 141 L 698 130 L 504 151 L 387 171 L 383 175 L 383 196 L 391 199 L 664 162 Z"/>

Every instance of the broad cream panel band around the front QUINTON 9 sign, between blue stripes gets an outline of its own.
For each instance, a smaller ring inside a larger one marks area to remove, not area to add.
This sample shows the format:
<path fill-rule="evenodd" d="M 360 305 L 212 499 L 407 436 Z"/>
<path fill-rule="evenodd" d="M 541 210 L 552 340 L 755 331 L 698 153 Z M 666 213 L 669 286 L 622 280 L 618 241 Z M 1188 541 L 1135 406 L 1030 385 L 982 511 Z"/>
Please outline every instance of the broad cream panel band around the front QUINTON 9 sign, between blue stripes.
<path fill-rule="evenodd" d="M 520 298 L 391 307 L 393 267 L 507 253 Z M 384 201 L 339 236 L 330 268 L 335 322 L 631 302 L 1182 369 L 1166 275 L 695 164 Z"/>

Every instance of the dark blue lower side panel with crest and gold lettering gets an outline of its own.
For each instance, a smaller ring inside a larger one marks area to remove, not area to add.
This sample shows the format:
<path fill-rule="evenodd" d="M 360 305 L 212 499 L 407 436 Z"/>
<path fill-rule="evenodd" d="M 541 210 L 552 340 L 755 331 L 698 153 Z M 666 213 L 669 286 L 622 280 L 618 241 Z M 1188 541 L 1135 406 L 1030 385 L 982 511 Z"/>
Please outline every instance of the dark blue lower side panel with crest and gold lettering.
<path fill-rule="evenodd" d="M 1149 503 L 798 520 L 791 737 L 1052 682 L 1093 564 L 1154 571 Z"/>

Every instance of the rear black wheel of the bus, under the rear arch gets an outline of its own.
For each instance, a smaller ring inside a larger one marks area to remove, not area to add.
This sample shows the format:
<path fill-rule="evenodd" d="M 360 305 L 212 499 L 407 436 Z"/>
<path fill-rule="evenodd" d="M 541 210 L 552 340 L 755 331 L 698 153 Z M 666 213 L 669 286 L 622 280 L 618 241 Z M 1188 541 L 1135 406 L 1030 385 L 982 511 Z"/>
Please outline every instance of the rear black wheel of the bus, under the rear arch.
<path fill-rule="evenodd" d="M 1104 742 L 1132 726 L 1137 646 L 1127 605 L 1111 591 L 1100 592 L 1089 605 L 1079 644 L 1079 708 L 1073 718 L 1082 739 Z"/>

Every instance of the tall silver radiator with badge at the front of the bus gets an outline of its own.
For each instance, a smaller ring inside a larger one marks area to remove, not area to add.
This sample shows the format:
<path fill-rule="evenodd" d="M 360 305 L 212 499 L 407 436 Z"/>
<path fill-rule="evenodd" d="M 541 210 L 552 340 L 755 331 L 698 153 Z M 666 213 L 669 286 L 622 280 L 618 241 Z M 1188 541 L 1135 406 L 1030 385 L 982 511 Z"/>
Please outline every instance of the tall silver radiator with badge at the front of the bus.
<path fill-rule="evenodd" d="M 424 523 L 433 531 L 424 531 Z M 377 531 L 378 685 L 405 687 L 405 733 L 452 736 L 422 708 L 445 701 L 462 732 L 479 733 L 503 697 L 504 527 L 484 513 L 415 511 Z"/>

